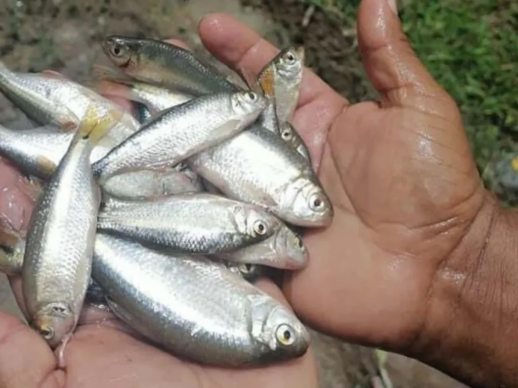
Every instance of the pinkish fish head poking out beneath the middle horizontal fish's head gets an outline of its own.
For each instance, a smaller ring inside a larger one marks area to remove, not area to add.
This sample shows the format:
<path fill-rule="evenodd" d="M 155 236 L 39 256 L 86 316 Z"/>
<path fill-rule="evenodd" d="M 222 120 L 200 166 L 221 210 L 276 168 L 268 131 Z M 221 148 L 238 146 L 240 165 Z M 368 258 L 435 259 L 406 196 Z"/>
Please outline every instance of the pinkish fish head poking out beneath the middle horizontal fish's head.
<path fill-rule="evenodd" d="M 309 253 L 302 238 L 287 226 L 276 233 L 274 250 L 286 269 L 300 270 L 308 265 Z"/>

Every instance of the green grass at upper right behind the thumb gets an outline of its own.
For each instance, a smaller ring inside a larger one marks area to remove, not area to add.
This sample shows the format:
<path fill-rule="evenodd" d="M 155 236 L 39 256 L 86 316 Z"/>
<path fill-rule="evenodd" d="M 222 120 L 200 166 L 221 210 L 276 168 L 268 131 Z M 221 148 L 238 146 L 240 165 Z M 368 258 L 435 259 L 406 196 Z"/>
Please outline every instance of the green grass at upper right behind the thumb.
<path fill-rule="evenodd" d="M 359 0 L 301 1 L 354 28 Z M 486 186 L 517 205 L 516 189 L 499 177 L 518 174 L 510 162 L 518 153 L 518 3 L 407 0 L 399 14 L 415 52 L 457 101 Z"/>

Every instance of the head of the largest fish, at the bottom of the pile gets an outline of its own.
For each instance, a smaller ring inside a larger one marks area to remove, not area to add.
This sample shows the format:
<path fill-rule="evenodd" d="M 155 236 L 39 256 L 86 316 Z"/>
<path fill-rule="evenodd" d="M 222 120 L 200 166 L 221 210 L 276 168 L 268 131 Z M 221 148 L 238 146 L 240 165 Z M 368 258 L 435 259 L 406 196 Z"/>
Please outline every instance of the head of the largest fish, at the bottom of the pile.
<path fill-rule="evenodd" d="M 304 355 L 311 339 L 295 314 L 272 300 L 258 302 L 254 306 L 252 335 L 265 346 L 262 357 L 282 361 Z"/>

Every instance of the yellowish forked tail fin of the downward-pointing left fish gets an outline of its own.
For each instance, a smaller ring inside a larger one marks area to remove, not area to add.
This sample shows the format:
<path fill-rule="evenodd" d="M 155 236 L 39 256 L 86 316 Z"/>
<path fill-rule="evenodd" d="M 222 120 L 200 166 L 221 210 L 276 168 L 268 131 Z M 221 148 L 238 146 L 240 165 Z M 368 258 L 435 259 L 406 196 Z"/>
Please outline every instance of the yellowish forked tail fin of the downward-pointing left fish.
<path fill-rule="evenodd" d="M 106 115 L 99 117 L 97 104 L 93 103 L 87 108 L 87 112 L 79 124 L 78 136 L 97 143 L 121 120 L 123 115 L 123 110 L 111 109 Z"/>

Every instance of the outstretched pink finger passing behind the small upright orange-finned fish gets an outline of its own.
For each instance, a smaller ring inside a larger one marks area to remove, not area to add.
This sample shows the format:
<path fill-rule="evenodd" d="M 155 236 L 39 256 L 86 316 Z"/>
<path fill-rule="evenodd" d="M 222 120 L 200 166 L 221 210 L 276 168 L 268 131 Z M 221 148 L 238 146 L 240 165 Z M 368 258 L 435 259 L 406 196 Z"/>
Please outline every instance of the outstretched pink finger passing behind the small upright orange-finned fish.
<path fill-rule="evenodd" d="M 206 16 L 199 24 L 199 35 L 207 50 L 236 71 L 245 68 L 257 74 L 279 53 L 279 49 L 246 24 L 223 13 Z M 306 68 L 300 85 L 299 106 L 306 105 L 326 93 L 336 94 L 315 73 Z"/>

